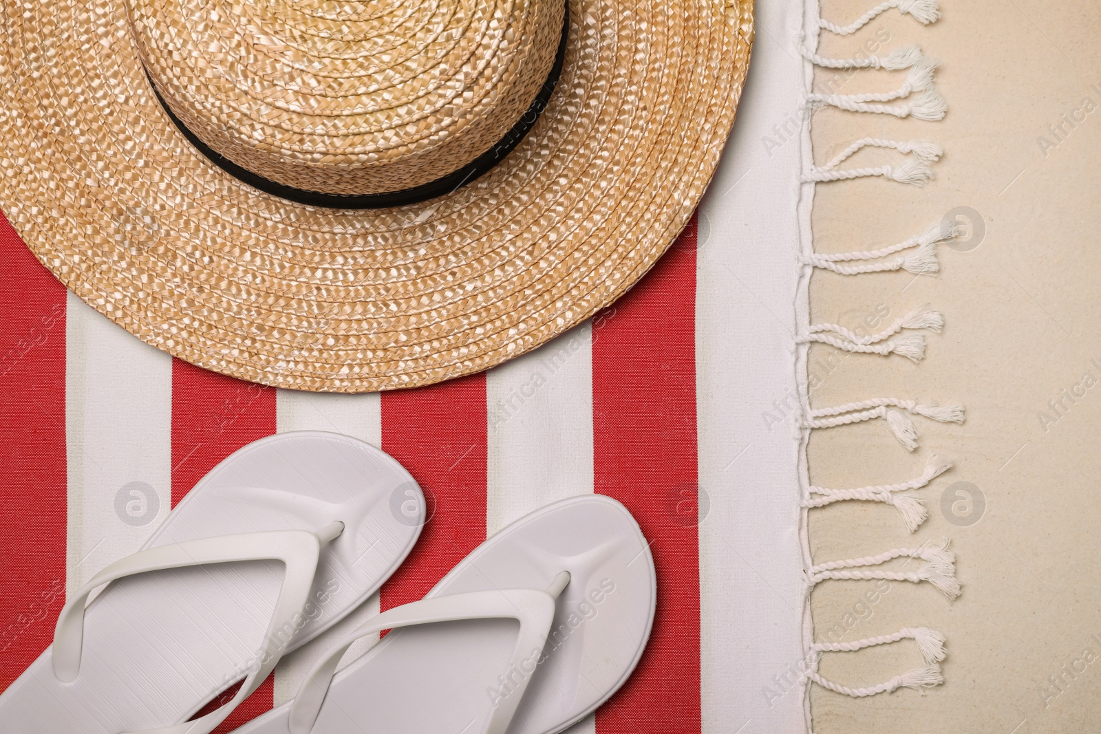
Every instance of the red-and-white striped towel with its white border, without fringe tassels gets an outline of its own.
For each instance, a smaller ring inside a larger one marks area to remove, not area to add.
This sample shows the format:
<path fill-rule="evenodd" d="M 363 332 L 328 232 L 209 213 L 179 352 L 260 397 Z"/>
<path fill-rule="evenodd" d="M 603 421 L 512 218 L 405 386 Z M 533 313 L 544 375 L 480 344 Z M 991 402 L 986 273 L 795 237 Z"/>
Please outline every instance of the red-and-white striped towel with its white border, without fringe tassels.
<path fill-rule="evenodd" d="M 206 372 L 67 295 L 0 218 L 0 690 L 50 644 L 66 590 L 137 550 L 218 461 L 320 429 L 380 446 L 429 500 L 418 545 L 357 618 L 419 599 L 527 512 L 599 492 L 651 540 L 657 613 L 633 677 L 574 734 L 803 731 L 797 440 L 761 419 L 785 419 L 795 394 L 799 144 L 761 140 L 798 111 L 800 62 L 768 41 L 798 31 L 796 6 L 759 3 L 698 219 L 612 307 L 482 374 L 344 396 Z M 308 653 L 219 731 L 287 700 Z"/>

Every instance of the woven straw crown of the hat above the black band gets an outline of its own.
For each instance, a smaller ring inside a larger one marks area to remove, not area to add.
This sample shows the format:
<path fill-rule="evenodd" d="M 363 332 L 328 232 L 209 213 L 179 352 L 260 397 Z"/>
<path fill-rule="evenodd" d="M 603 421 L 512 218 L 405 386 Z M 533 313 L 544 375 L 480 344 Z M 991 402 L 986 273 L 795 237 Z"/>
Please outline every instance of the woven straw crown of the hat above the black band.
<path fill-rule="evenodd" d="M 550 73 L 563 0 L 129 0 L 178 123 L 276 184 L 402 191 L 504 138 Z"/>

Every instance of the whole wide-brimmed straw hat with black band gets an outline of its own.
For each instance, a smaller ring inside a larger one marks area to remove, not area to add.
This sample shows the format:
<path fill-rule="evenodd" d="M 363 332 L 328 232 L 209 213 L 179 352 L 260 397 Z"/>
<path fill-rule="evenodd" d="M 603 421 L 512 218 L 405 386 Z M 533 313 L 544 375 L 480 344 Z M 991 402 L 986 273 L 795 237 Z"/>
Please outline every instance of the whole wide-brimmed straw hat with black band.
<path fill-rule="evenodd" d="M 752 0 L 0 12 L 0 208 L 39 259 L 176 357 L 338 392 L 484 370 L 625 292 L 753 34 Z"/>

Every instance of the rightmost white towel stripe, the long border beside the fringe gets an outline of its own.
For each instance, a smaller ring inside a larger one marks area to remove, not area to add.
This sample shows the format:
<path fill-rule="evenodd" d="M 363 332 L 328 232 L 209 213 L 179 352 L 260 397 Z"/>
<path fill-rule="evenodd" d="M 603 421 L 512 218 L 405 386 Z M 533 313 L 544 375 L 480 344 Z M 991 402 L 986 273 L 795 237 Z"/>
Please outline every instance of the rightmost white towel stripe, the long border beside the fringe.
<path fill-rule="evenodd" d="M 751 78 L 700 206 L 699 483 L 710 504 L 699 526 L 705 732 L 805 731 L 798 438 L 791 423 L 798 412 L 803 61 L 784 45 L 802 30 L 802 12 L 800 2 L 756 4 Z"/>

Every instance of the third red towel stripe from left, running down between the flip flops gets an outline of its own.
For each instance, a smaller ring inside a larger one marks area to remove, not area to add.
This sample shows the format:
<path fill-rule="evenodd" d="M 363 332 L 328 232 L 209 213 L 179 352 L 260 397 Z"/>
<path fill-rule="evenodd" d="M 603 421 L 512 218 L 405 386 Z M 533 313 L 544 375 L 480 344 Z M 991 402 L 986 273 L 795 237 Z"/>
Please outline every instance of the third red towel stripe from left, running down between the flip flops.
<path fill-rule="evenodd" d="M 413 474 L 429 518 L 382 587 L 382 609 L 422 599 L 486 539 L 486 375 L 382 394 L 382 448 Z"/>

